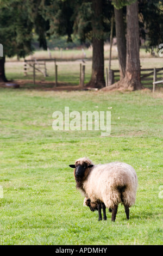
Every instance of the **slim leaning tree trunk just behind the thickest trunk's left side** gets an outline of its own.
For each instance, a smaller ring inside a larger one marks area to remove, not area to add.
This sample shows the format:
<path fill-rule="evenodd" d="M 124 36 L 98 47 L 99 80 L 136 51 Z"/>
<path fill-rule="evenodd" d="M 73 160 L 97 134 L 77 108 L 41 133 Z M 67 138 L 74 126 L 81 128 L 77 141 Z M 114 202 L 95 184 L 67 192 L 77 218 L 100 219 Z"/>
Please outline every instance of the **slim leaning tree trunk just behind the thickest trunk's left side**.
<path fill-rule="evenodd" d="M 120 66 L 120 80 L 124 78 L 126 71 L 126 38 L 124 30 L 123 10 L 114 8 L 115 27 L 118 48 L 118 61 Z"/>

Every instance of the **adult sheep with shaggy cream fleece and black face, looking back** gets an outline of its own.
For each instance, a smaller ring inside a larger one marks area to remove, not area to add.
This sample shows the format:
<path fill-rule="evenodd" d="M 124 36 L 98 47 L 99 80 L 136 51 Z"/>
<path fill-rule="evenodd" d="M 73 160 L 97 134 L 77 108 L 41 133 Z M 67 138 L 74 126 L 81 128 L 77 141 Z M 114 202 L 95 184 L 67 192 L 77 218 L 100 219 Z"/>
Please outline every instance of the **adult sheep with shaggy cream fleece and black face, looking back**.
<path fill-rule="evenodd" d="M 70 167 L 74 168 L 76 188 L 91 203 L 97 204 L 98 220 L 102 220 L 102 203 L 112 209 L 111 221 L 115 221 L 118 204 L 122 203 L 129 220 L 129 208 L 135 203 L 137 190 L 137 175 L 133 167 L 122 162 L 94 165 L 86 157 L 76 160 Z"/>

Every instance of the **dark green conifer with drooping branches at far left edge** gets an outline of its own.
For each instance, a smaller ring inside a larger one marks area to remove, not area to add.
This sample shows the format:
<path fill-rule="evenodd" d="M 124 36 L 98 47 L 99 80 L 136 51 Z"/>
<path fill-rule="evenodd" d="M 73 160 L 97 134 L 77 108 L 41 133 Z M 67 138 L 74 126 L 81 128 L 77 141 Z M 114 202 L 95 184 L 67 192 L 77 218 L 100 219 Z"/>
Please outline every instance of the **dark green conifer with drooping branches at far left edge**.
<path fill-rule="evenodd" d="M 46 0 L 47 1 L 47 0 Z M 40 47 L 47 48 L 46 31 L 48 21 L 41 15 L 41 0 L 0 0 L 0 43 L 3 57 L 0 57 L 0 81 L 7 82 L 5 57 L 25 57 L 32 47 L 33 29 L 39 35 Z"/>

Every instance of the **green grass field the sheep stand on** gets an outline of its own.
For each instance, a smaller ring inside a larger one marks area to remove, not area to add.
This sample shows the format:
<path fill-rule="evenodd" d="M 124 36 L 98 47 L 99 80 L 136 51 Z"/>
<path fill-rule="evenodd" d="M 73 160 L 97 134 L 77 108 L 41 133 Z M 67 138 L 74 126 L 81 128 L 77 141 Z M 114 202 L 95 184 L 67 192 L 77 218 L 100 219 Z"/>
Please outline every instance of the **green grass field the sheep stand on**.
<path fill-rule="evenodd" d="M 162 93 L 41 92 L 0 88 L 1 245 L 161 245 Z M 54 131 L 54 111 L 111 111 L 111 135 Z M 108 107 L 112 107 L 108 109 Z M 79 157 L 122 161 L 139 187 L 126 220 L 98 222 L 83 206 L 73 170 Z"/>

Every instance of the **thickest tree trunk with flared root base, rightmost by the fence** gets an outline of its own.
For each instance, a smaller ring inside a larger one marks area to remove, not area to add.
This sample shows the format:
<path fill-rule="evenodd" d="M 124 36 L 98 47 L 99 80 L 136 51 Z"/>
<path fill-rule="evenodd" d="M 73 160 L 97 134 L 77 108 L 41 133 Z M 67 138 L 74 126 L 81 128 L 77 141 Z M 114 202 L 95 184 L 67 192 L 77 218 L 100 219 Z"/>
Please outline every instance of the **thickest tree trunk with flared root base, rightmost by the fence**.
<path fill-rule="evenodd" d="M 140 80 L 139 58 L 139 20 L 138 3 L 127 6 L 127 49 L 125 77 L 103 90 L 139 90 Z"/>

